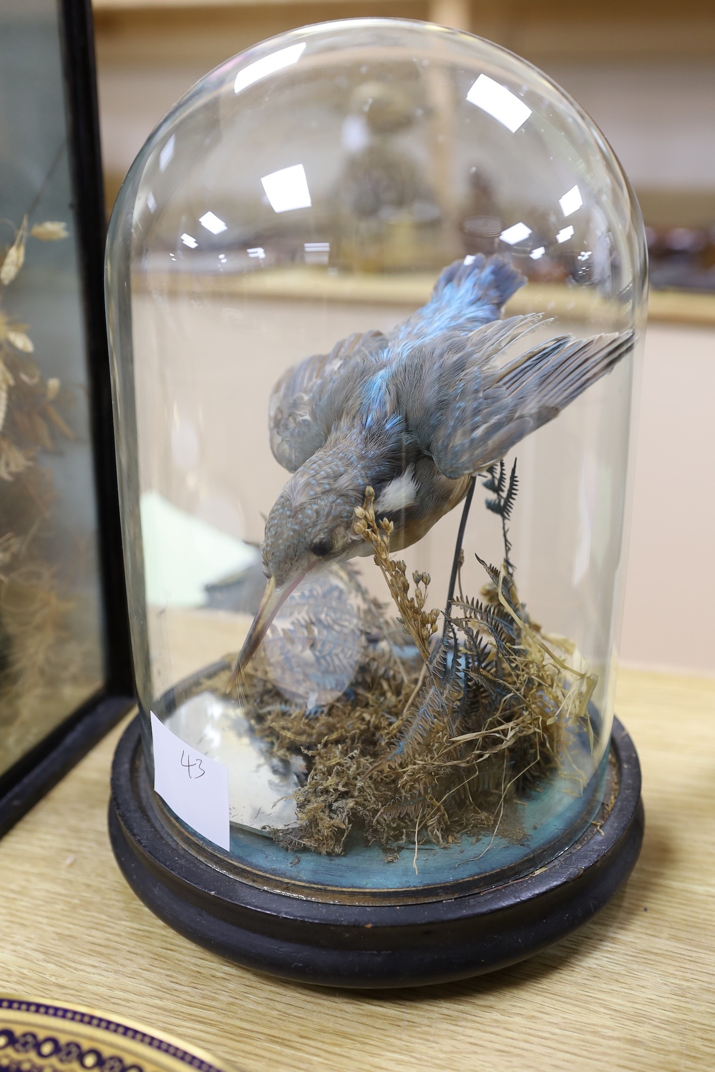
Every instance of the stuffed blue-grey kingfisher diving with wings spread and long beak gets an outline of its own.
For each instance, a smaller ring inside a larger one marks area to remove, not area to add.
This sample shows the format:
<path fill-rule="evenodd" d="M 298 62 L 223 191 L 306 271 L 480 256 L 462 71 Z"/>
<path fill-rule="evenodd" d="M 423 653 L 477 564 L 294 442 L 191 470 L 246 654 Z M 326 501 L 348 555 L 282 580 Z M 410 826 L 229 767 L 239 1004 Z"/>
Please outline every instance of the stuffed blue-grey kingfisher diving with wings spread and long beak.
<path fill-rule="evenodd" d="M 270 446 L 293 476 L 266 521 L 268 584 L 232 684 L 307 574 L 372 553 L 353 528 L 367 487 L 375 516 L 393 523 L 390 550 L 408 547 L 457 506 L 474 474 L 631 348 L 631 331 L 562 334 L 509 357 L 507 347 L 549 323 L 541 314 L 501 318 L 525 282 L 500 256 L 456 260 L 427 304 L 389 334 L 352 334 L 278 381 Z"/>

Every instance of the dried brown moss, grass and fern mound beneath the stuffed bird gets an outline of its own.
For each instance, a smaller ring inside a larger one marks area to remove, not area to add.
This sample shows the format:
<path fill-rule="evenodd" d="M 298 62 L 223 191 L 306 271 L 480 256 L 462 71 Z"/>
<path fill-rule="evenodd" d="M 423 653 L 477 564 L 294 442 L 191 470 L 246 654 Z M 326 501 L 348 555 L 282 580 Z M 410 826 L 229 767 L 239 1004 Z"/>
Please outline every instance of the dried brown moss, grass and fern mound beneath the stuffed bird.
<path fill-rule="evenodd" d="M 260 659 L 249 666 L 243 698 L 256 733 L 278 756 L 301 751 L 308 761 L 295 793 L 298 825 L 271 831 L 286 849 L 341 853 L 351 831 L 377 842 L 387 859 L 405 845 L 416 852 L 497 828 L 519 837 L 523 831 L 508 829 L 507 801 L 563 763 L 577 735 L 593 744 L 596 678 L 567 665 L 572 645 L 546 637 L 517 592 L 508 537 L 516 464 L 510 475 L 503 462 L 492 466 L 483 483 L 487 507 L 502 521 L 504 561 L 496 568 L 477 556 L 488 581 L 480 599 L 467 598 L 459 546 L 458 595 L 450 592 L 441 639 L 430 644 L 440 617 L 427 609 L 430 577 L 413 574 L 411 593 L 404 562 L 389 556 L 392 526 L 375 517 L 368 488 L 355 531 L 374 551 L 398 624 L 364 596 L 377 642 L 351 688 L 323 708 L 287 701 Z M 414 642 L 412 659 L 396 657 L 402 630 Z"/>

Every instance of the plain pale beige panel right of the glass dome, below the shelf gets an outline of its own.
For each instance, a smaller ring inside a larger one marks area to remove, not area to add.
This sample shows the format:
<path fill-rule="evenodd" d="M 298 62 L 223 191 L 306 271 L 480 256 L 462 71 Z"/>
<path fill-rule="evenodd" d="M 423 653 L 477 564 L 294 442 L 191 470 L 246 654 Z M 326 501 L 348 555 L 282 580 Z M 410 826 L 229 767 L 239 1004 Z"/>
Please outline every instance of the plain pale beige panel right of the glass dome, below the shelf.
<path fill-rule="evenodd" d="M 715 672 L 715 329 L 651 323 L 622 660 Z"/>

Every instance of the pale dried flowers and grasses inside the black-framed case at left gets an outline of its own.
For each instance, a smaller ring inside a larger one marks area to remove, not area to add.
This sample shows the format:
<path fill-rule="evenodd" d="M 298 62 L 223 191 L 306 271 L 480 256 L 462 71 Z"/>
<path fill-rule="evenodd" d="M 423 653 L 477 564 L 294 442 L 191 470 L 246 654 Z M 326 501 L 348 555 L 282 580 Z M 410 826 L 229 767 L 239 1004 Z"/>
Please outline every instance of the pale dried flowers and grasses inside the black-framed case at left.
<path fill-rule="evenodd" d="M 68 228 L 56 220 L 30 227 L 26 215 L 13 232 L 12 243 L 0 254 L 0 773 L 23 750 L 29 723 L 36 739 L 43 725 L 39 693 L 53 686 L 57 695 L 73 670 L 66 645 L 60 652 L 55 643 L 65 628 L 70 602 L 48 562 L 55 491 L 49 472 L 39 464 L 43 451 L 57 449 L 58 437 L 74 438 L 61 413 L 72 394 L 57 376 L 43 376 L 30 327 L 17 323 L 1 303 L 25 265 L 28 240 L 60 241 Z"/>

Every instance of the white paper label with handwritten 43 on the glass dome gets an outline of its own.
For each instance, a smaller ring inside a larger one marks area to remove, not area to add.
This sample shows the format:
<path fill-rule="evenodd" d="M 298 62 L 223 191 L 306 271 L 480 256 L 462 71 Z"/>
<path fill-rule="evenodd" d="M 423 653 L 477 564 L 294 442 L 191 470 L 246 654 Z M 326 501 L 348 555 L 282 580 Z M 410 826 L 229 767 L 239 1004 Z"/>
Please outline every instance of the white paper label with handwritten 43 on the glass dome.
<path fill-rule="evenodd" d="M 154 791 L 197 834 L 228 849 L 228 771 L 151 714 Z"/>

